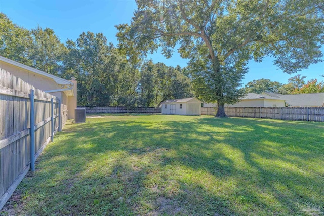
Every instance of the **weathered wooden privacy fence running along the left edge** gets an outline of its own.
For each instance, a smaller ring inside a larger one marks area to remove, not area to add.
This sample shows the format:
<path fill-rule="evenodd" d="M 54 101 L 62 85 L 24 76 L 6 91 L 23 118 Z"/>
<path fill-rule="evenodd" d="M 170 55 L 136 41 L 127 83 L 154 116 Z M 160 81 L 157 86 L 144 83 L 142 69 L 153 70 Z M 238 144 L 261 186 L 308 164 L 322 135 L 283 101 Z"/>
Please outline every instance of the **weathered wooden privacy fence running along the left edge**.
<path fill-rule="evenodd" d="M 0 209 L 61 130 L 60 101 L 0 68 Z"/>

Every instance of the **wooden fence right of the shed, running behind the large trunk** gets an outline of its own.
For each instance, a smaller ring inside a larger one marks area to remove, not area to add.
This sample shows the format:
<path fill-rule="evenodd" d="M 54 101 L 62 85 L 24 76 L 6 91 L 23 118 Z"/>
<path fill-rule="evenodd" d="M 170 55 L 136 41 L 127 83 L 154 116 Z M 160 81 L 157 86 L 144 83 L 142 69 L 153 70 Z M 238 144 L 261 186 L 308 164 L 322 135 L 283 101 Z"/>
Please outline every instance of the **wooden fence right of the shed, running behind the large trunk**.
<path fill-rule="evenodd" d="M 201 115 L 206 108 L 210 107 L 201 108 Z M 231 117 L 324 122 L 324 107 L 225 107 L 225 113 Z"/>

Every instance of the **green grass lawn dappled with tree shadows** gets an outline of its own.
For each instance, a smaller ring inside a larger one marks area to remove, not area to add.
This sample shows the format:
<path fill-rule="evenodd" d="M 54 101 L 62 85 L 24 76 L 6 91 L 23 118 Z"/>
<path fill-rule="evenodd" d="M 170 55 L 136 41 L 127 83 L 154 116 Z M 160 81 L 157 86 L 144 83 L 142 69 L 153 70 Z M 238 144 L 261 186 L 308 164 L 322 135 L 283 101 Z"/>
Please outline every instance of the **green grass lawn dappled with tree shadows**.
<path fill-rule="evenodd" d="M 324 211 L 323 123 L 102 116 L 67 124 L 2 214 L 317 215 Z"/>

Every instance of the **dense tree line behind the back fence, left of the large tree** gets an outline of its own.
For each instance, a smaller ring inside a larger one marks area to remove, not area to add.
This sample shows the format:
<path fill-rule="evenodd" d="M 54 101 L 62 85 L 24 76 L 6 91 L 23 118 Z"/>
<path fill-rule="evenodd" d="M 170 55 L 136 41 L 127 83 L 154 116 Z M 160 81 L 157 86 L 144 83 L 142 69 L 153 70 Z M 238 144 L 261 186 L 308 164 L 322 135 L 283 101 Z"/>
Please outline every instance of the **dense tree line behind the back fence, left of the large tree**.
<path fill-rule="evenodd" d="M 80 106 L 158 106 L 193 96 L 185 68 L 131 61 L 102 33 L 83 32 L 62 43 L 54 30 L 25 29 L 0 13 L 0 55 L 47 73 L 77 80 Z"/>

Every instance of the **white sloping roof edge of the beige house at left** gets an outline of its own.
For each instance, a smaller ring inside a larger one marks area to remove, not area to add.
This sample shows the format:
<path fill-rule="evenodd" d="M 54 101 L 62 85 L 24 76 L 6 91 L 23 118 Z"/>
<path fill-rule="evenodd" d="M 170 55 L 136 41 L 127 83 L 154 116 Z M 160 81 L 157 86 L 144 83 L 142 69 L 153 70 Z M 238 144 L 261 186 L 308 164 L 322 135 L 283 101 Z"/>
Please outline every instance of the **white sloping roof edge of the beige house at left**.
<path fill-rule="evenodd" d="M 52 74 L 46 73 L 46 72 L 41 71 L 41 70 L 37 70 L 37 69 L 35 69 L 33 67 L 29 67 L 27 65 L 21 64 L 21 63 L 16 62 L 16 61 L 13 61 L 11 59 L 7 59 L 7 58 L 5 58 L 3 56 L 0 56 L 0 61 L 6 62 L 6 63 L 11 64 L 11 65 L 14 65 L 16 67 L 26 69 L 26 70 L 28 70 L 28 71 L 30 71 L 32 73 L 36 73 L 36 74 L 39 74 L 39 75 L 42 75 L 42 76 L 49 77 L 49 78 L 53 79 L 57 84 L 60 84 L 60 85 L 73 85 L 73 83 L 71 81 L 68 81 L 66 79 L 62 79 L 60 77 L 54 76 Z"/>

